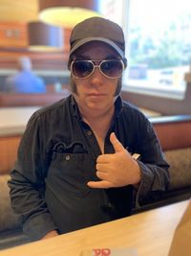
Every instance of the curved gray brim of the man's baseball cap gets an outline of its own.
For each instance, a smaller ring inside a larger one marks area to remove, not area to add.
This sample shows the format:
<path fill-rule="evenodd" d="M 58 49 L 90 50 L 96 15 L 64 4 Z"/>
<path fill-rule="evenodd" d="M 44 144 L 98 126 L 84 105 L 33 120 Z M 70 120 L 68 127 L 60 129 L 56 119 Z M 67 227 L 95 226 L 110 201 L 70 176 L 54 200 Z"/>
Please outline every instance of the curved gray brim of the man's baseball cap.
<path fill-rule="evenodd" d="M 114 50 L 116 50 L 117 54 L 121 57 L 124 58 L 124 53 L 123 51 L 117 46 L 116 43 L 114 43 L 113 41 L 103 38 L 103 37 L 88 37 L 85 38 L 83 40 L 80 40 L 78 43 L 76 43 L 74 45 L 74 47 L 71 49 L 70 51 L 70 56 L 74 53 L 74 51 L 76 51 L 79 47 L 81 47 L 82 45 L 88 43 L 88 42 L 92 42 L 92 41 L 100 41 L 100 42 L 104 42 L 107 43 L 108 45 L 110 45 Z"/>

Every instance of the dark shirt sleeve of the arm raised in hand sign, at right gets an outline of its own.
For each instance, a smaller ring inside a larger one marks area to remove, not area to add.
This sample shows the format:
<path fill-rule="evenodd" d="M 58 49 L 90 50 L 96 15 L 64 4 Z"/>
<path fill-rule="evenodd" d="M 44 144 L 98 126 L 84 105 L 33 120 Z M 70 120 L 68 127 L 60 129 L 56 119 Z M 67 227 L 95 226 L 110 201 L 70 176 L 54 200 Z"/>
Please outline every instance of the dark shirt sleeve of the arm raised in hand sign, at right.
<path fill-rule="evenodd" d="M 159 144 L 152 124 L 145 118 L 140 125 L 138 135 L 138 165 L 141 181 L 138 187 L 136 206 L 161 197 L 169 184 L 169 165 Z"/>

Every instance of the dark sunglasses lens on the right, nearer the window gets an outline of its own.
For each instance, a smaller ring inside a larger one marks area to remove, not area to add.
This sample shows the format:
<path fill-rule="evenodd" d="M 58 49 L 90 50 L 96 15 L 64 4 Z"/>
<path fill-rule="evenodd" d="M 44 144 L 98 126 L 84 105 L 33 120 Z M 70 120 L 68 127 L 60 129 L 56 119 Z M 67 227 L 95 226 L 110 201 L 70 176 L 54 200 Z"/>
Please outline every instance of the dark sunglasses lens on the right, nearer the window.
<path fill-rule="evenodd" d="M 120 60 L 105 60 L 100 65 L 101 72 L 110 78 L 119 78 L 123 72 L 123 65 Z"/>

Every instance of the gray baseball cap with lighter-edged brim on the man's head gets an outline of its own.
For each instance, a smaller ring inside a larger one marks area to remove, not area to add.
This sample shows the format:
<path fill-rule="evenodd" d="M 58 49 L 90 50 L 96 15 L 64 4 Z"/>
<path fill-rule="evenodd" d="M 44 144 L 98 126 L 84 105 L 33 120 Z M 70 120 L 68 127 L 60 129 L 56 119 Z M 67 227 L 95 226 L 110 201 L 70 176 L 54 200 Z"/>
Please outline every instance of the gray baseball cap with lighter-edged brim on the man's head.
<path fill-rule="evenodd" d="M 88 18 L 75 25 L 70 38 L 69 59 L 79 47 L 92 41 L 101 41 L 110 45 L 126 65 L 123 31 L 117 23 L 102 17 Z"/>

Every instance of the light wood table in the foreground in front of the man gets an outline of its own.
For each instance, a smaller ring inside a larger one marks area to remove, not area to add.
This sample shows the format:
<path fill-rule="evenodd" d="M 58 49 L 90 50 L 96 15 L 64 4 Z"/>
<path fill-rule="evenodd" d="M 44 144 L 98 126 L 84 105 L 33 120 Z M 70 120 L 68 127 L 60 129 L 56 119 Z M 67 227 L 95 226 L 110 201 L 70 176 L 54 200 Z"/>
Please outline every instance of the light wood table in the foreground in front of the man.
<path fill-rule="evenodd" d="M 175 228 L 188 205 L 182 201 L 51 239 L 20 245 L 0 256 L 79 256 L 84 249 L 129 247 L 138 256 L 167 256 Z"/>

